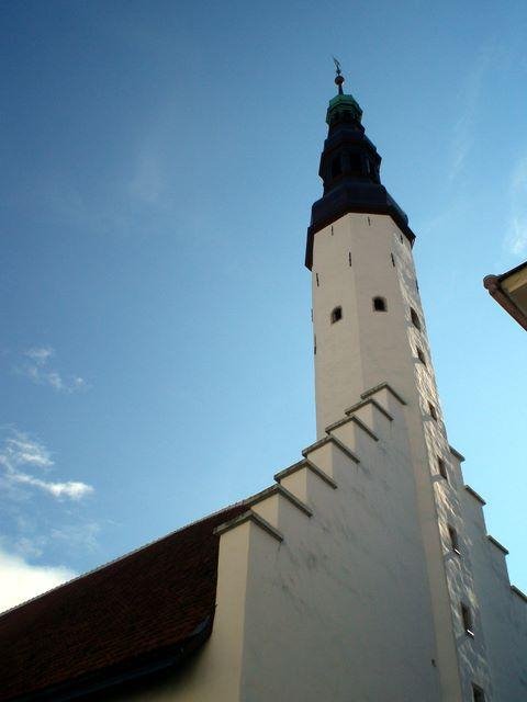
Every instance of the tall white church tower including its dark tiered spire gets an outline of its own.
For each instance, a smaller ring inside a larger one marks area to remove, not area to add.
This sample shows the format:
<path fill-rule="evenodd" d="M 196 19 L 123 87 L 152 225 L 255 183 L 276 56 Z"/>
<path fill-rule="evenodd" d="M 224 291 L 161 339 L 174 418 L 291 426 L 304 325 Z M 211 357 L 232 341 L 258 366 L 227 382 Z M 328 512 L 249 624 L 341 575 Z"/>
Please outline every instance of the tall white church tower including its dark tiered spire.
<path fill-rule="evenodd" d="M 324 193 L 312 208 L 305 254 L 317 437 L 381 387 L 404 398 L 440 699 L 489 700 L 493 676 L 463 514 L 463 457 L 449 445 L 442 420 L 412 254 L 415 235 L 382 185 L 381 157 L 336 66 L 338 94 L 327 109 L 318 171 Z"/>

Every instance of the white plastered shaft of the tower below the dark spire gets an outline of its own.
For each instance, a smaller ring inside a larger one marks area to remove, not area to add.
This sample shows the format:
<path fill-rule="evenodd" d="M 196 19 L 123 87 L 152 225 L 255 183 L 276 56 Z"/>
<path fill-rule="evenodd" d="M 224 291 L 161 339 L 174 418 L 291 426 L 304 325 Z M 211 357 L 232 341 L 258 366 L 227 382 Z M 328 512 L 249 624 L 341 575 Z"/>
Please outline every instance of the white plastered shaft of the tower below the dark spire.
<path fill-rule="evenodd" d="M 470 564 L 456 568 L 447 562 L 447 524 L 458 523 L 461 513 L 458 486 L 438 476 L 438 457 L 450 465 L 451 454 L 410 242 L 389 216 L 348 214 L 315 235 L 312 288 L 318 435 L 369 387 L 388 382 L 406 400 L 408 469 L 426 555 L 441 694 L 452 702 L 470 700 L 475 672 L 489 682 L 484 636 L 472 643 L 460 636 L 461 601 L 469 599 L 474 611 L 478 602 Z M 386 312 L 374 312 L 375 296 L 386 301 Z M 343 319 L 332 324 L 336 306 Z"/>

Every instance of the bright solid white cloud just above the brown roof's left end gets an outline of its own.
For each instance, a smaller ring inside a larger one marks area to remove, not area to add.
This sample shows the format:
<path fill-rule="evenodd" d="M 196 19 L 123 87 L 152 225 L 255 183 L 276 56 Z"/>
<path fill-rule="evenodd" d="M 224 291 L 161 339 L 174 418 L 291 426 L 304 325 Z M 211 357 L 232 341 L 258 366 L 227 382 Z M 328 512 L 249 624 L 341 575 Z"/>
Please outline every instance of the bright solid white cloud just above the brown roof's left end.
<path fill-rule="evenodd" d="M 37 566 L 0 547 L 0 611 L 15 607 L 76 577 L 64 566 Z"/>

